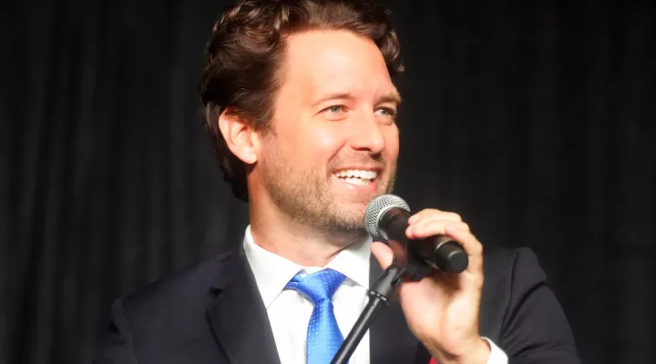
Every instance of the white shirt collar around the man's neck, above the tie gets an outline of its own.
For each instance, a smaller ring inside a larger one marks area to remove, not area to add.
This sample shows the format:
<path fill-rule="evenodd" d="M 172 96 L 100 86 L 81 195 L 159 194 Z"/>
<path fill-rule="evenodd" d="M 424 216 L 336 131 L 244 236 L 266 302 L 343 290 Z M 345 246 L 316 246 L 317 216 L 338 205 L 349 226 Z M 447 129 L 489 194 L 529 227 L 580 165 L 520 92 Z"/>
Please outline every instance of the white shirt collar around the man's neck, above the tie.
<path fill-rule="evenodd" d="M 371 256 L 369 247 L 371 242 L 372 239 L 367 237 L 363 241 L 343 248 L 324 268 L 337 270 L 355 284 L 369 288 L 369 258 Z M 246 227 L 243 248 L 265 308 L 269 308 L 273 300 L 297 273 L 313 273 L 322 269 L 303 267 L 261 248 L 253 241 L 250 225 Z"/>

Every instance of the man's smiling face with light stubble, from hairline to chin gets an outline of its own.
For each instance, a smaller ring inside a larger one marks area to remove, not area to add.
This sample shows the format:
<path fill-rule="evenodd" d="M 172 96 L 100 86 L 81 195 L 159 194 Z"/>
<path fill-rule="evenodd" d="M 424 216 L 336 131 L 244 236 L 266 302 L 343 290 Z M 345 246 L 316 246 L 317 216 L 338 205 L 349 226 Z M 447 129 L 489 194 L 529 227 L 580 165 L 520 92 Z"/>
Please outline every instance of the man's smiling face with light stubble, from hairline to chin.
<path fill-rule="evenodd" d="M 348 31 L 291 35 L 281 81 L 258 183 L 292 218 L 362 232 L 369 201 L 392 189 L 399 147 L 399 96 L 380 50 Z"/>

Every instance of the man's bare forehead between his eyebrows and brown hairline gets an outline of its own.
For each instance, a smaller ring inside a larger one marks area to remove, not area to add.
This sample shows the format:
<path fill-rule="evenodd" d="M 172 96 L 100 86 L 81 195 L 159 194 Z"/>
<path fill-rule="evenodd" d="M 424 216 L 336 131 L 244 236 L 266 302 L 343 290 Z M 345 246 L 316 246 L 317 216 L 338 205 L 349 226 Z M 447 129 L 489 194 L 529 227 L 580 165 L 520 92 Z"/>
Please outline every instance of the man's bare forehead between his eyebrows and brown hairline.
<path fill-rule="evenodd" d="M 313 30 L 290 35 L 282 66 L 282 87 L 322 93 L 389 94 L 395 86 L 374 42 L 345 30 Z"/>

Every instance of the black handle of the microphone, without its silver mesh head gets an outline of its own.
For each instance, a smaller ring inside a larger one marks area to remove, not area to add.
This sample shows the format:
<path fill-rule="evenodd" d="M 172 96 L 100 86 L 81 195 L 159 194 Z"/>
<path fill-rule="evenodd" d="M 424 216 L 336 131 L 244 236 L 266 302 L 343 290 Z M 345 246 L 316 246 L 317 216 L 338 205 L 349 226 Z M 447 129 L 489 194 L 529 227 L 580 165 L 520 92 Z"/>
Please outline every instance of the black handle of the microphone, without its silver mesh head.
<path fill-rule="evenodd" d="M 409 256 L 404 259 L 406 263 L 415 260 L 415 262 L 427 264 L 446 273 L 461 273 L 467 268 L 469 258 L 462 246 L 452 238 L 436 235 L 420 240 L 408 239 L 405 236 L 405 229 L 409 225 L 409 217 L 410 212 L 404 208 L 392 207 L 384 212 L 378 223 L 383 235 L 388 240 L 405 247 Z M 395 255 L 399 255 L 398 248 L 395 249 Z"/>

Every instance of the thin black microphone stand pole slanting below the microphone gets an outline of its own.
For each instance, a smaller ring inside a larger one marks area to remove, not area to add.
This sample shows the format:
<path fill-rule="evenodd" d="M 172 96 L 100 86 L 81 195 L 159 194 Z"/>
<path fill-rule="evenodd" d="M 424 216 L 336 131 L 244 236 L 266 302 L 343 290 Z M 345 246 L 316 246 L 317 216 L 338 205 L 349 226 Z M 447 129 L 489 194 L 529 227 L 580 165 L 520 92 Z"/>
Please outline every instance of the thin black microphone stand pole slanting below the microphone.
<path fill-rule="evenodd" d="M 367 302 L 351 332 L 344 339 L 342 346 L 337 350 L 331 364 L 346 364 L 348 362 L 360 340 L 362 340 L 364 333 L 374 322 L 375 315 L 380 311 L 380 308 L 383 308 L 383 304 L 389 304 L 389 299 L 401 283 L 404 273 L 405 268 L 400 268 L 394 263 L 384 270 L 374 286 L 369 289 L 367 293 L 369 302 Z"/>

